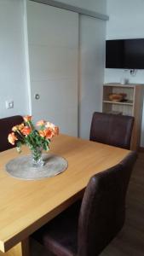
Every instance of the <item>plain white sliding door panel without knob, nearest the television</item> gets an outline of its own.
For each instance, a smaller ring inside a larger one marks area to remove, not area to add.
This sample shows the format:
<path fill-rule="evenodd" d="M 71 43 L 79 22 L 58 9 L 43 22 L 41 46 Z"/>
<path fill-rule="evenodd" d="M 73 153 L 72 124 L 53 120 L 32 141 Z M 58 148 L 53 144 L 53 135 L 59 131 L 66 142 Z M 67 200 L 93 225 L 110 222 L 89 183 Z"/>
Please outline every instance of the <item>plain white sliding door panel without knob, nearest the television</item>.
<path fill-rule="evenodd" d="M 79 136 L 89 138 L 92 114 L 101 111 L 106 22 L 80 15 Z"/>

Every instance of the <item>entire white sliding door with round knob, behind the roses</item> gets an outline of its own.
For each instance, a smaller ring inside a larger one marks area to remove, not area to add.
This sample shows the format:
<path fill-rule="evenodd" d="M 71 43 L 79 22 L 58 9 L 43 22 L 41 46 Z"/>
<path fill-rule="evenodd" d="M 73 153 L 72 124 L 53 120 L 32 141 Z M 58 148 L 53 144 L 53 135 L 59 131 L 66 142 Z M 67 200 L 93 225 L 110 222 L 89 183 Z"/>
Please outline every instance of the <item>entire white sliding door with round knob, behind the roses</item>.
<path fill-rule="evenodd" d="M 78 135 L 78 14 L 27 2 L 32 115 Z"/>

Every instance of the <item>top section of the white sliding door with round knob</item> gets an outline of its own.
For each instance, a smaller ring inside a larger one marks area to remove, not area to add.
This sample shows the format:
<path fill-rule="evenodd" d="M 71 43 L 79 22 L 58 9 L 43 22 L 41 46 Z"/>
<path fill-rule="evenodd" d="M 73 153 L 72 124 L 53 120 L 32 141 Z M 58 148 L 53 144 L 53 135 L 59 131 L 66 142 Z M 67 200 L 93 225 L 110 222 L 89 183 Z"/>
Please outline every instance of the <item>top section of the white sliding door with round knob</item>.
<path fill-rule="evenodd" d="M 29 44 L 78 48 L 78 14 L 41 3 L 27 3 Z"/>

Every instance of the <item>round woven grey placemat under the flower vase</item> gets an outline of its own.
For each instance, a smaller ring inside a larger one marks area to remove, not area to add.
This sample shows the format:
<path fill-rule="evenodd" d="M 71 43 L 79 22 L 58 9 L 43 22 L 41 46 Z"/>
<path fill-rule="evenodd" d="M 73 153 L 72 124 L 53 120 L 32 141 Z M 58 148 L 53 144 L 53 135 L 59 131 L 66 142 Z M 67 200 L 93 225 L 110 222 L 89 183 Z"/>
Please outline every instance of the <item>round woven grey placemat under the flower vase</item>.
<path fill-rule="evenodd" d="M 25 180 L 42 179 L 52 177 L 60 172 L 64 172 L 68 166 L 67 161 L 55 154 L 43 154 L 44 166 L 32 166 L 32 156 L 25 155 L 9 160 L 6 164 L 6 171 L 12 177 Z"/>

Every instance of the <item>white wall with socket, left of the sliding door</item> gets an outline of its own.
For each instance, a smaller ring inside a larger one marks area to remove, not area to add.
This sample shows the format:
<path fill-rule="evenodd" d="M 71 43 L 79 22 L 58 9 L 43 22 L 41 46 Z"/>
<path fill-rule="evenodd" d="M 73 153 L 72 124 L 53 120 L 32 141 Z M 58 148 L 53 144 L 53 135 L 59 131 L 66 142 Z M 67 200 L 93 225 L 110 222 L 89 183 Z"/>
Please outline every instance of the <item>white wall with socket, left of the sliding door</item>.
<path fill-rule="evenodd" d="M 22 0 L 0 1 L 0 118 L 28 112 L 23 10 Z"/>

